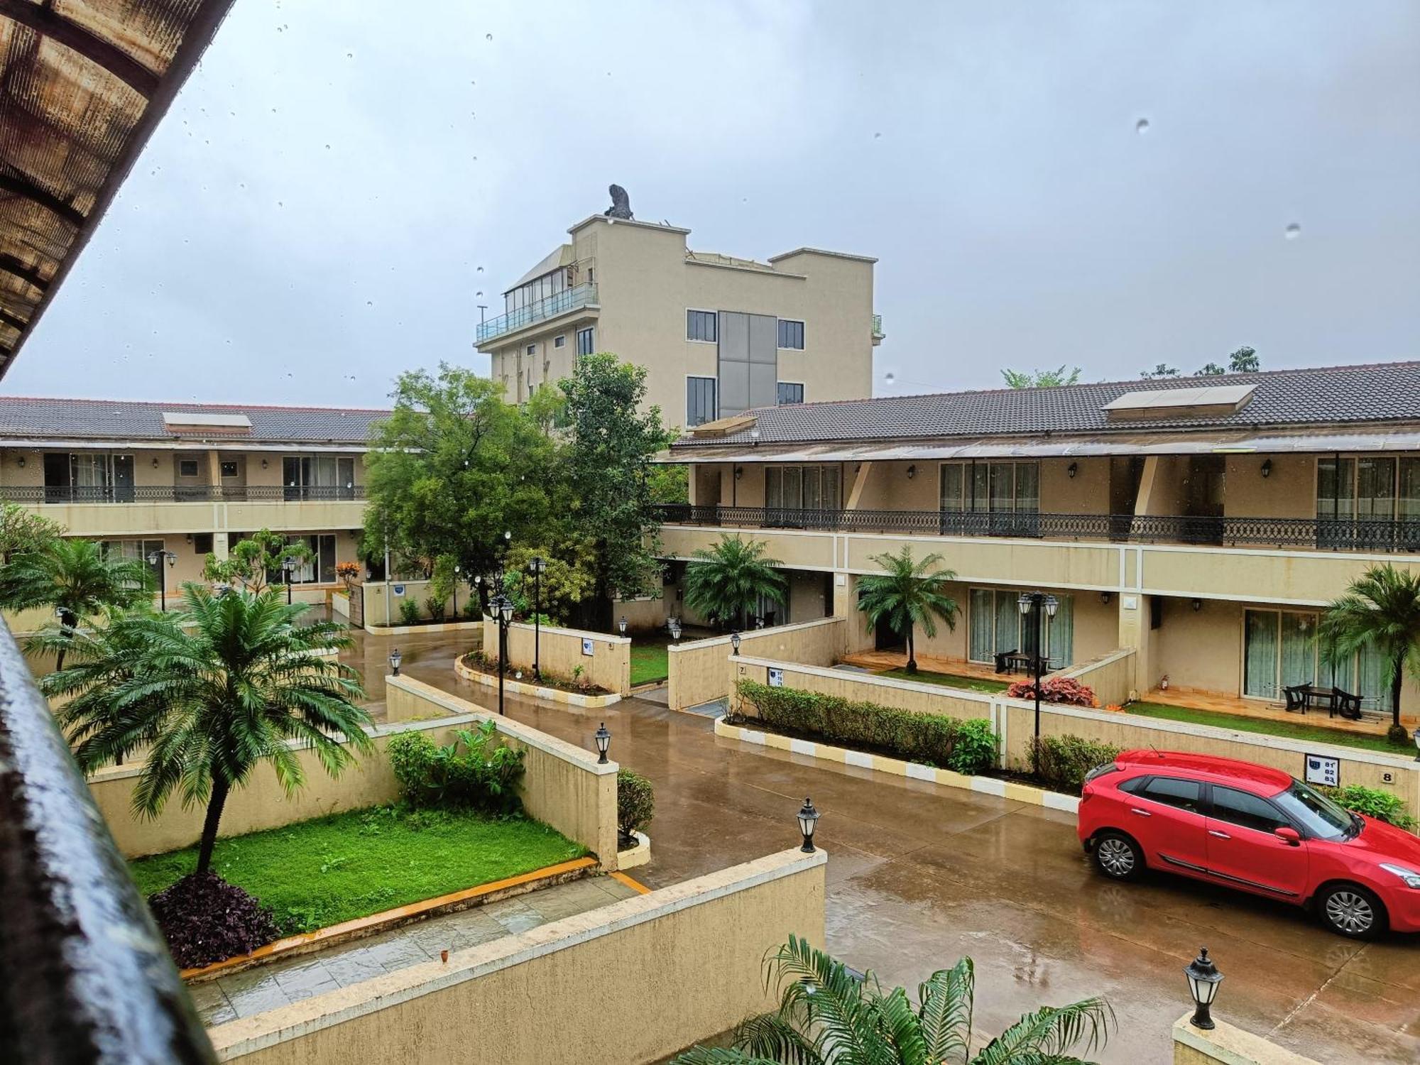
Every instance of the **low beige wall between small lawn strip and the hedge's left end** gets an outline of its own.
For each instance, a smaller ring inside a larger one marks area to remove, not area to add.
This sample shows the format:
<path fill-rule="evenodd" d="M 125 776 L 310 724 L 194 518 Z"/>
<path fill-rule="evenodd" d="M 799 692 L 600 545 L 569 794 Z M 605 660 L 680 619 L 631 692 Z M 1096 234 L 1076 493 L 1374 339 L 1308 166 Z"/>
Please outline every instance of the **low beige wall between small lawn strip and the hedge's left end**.
<path fill-rule="evenodd" d="M 740 635 L 740 655 L 787 659 L 807 666 L 831 666 L 848 649 L 848 619 L 816 618 L 795 625 L 751 629 Z M 684 710 L 724 699 L 733 687 L 727 659 L 728 636 L 677 643 L 667 649 L 666 703 Z"/>

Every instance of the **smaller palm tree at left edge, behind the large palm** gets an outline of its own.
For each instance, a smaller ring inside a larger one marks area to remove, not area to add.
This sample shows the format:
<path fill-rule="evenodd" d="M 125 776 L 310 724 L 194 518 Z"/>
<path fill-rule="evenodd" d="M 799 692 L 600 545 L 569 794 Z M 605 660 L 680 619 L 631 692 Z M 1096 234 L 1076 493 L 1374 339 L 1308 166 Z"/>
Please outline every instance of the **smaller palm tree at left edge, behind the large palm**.
<path fill-rule="evenodd" d="M 54 540 L 0 569 L 0 606 L 27 611 L 53 606 L 65 639 L 50 645 L 64 669 L 64 653 L 80 622 L 105 608 L 152 601 L 152 572 L 136 558 L 109 558 L 91 540 Z"/>

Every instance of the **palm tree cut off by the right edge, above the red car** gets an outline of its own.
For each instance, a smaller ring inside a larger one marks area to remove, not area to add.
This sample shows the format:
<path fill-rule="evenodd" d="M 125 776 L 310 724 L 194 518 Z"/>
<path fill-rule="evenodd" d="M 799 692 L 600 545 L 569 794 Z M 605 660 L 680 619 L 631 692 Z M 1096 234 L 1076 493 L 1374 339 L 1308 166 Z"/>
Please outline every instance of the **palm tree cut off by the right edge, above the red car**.
<path fill-rule="evenodd" d="M 1406 666 L 1420 672 L 1420 574 L 1373 565 L 1322 615 L 1322 655 L 1333 665 L 1375 650 L 1390 666 L 1390 738 L 1406 741 L 1400 687 Z"/>

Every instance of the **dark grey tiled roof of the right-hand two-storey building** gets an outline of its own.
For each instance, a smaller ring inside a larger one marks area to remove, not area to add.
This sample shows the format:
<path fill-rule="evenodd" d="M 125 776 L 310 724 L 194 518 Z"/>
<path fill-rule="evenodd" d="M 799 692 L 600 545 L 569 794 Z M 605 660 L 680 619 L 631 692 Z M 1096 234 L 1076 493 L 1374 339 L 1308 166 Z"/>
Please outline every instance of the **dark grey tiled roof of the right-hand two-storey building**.
<path fill-rule="evenodd" d="M 1142 389 L 1255 385 L 1241 410 L 1218 417 L 1110 419 L 1105 403 Z M 943 392 L 829 403 L 760 408 L 758 437 L 683 436 L 676 446 L 707 447 L 812 440 L 900 440 L 953 436 L 1108 433 L 1120 429 L 1179 430 L 1242 426 L 1305 426 L 1358 422 L 1420 422 L 1420 362 L 1316 369 L 1279 369 L 1208 378 L 1113 381 L 1059 388 Z"/>

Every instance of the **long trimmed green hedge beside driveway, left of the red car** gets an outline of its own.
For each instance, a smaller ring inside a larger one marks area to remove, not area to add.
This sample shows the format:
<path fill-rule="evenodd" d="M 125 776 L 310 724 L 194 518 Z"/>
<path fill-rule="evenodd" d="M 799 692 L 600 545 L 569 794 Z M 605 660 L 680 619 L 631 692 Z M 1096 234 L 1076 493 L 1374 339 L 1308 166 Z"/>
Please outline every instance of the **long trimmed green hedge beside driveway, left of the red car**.
<path fill-rule="evenodd" d="M 741 680 L 737 690 L 740 699 L 754 707 L 758 721 L 771 730 L 957 772 L 995 768 L 997 740 L 985 719 L 958 721 L 753 680 Z"/>

